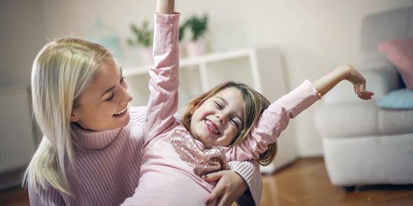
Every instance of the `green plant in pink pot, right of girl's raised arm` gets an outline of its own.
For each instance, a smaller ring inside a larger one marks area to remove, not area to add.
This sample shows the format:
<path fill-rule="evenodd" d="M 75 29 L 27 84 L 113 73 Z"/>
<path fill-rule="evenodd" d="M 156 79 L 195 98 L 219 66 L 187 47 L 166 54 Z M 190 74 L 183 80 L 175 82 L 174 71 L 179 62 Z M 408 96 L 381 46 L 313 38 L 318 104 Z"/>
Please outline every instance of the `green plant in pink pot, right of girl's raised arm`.
<path fill-rule="evenodd" d="M 201 18 L 192 16 L 185 23 L 185 27 L 189 27 L 192 32 L 192 38 L 187 43 L 187 54 L 189 57 L 200 56 L 207 52 L 207 43 L 201 38 L 208 30 L 208 16 L 204 14 Z"/>

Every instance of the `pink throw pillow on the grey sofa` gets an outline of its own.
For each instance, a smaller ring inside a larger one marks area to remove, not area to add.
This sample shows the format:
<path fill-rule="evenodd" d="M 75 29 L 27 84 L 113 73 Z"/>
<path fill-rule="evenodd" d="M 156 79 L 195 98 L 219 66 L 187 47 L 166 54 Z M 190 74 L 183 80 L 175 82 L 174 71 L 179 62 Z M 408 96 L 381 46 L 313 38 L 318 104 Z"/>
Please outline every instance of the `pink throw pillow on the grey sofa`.
<path fill-rule="evenodd" d="M 413 89 L 413 38 L 382 42 L 379 49 L 397 67 L 407 89 Z"/>

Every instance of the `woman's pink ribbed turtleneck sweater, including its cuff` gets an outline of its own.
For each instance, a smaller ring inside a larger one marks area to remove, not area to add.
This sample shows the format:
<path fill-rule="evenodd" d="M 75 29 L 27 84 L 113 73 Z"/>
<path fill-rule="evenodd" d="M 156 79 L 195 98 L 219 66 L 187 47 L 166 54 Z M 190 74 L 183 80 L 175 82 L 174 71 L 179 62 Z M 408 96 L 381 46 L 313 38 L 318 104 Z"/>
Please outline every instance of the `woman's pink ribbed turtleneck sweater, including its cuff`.
<path fill-rule="evenodd" d="M 53 187 L 38 192 L 29 187 L 30 205 L 120 205 L 132 196 L 138 187 L 145 113 L 144 106 L 129 108 L 129 124 L 115 130 L 87 131 L 74 126 L 81 146 L 74 152 L 76 172 L 67 170 L 74 198 Z M 262 181 L 256 162 L 229 165 L 244 178 L 253 193 L 261 194 Z"/>

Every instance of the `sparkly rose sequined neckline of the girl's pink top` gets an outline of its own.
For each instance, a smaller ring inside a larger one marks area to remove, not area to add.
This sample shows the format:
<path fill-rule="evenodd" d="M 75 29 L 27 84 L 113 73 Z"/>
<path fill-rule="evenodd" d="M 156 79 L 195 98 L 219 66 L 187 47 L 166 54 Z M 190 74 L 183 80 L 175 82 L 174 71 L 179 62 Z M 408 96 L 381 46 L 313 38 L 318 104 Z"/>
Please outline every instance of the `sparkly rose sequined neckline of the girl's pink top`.
<path fill-rule="evenodd" d="M 193 168 L 198 176 L 218 170 L 229 170 L 222 146 L 201 150 L 188 130 L 175 128 L 171 132 L 171 144 L 180 159 Z"/>

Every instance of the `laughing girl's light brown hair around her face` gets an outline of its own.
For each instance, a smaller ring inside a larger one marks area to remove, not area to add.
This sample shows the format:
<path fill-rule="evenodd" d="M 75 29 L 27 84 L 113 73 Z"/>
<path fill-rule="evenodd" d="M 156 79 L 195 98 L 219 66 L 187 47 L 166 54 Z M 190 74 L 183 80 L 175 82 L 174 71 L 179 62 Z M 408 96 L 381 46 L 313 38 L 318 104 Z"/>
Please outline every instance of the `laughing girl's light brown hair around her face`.
<path fill-rule="evenodd" d="M 184 111 L 182 115 L 182 123 L 184 126 L 189 130 L 191 119 L 193 115 L 193 110 L 196 109 L 198 106 L 203 104 L 206 100 L 213 97 L 219 91 L 223 89 L 233 87 L 235 89 L 239 89 L 242 93 L 242 98 L 244 98 L 244 117 L 242 118 L 242 122 L 244 122 L 243 128 L 238 133 L 237 137 L 233 139 L 231 146 L 240 144 L 240 142 L 244 141 L 250 133 L 251 128 L 257 120 L 259 119 L 262 112 L 270 106 L 270 102 L 264 97 L 264 95 L 260 94 L 259 92 L 251 89 L 246 84 L 242 83 L 235 83 L 235 82 L 225 82 L 223 84 L 219 84 L 218 86 L 214 87 L 207 93 L 199 95 L 193 100 L 189 101 L 186 106 L 184 106 Z M 260 154 L 260 164 L 261 165 L 268 165 L 273 161 L 275 155 L 277 155 L 277 141 L 273 144 L 268 145 L 268 149 Z"/>

